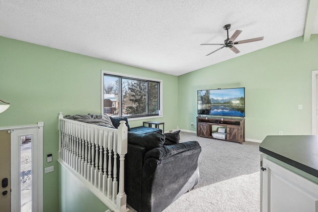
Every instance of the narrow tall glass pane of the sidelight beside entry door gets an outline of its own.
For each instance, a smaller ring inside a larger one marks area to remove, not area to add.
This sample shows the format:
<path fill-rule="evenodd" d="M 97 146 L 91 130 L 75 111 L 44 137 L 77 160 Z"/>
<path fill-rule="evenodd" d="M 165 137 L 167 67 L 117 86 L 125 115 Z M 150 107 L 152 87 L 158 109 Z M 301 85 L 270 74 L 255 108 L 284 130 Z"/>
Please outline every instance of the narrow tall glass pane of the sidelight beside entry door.
<path fill-rule="evenodd" d="M 20 136 L 21 212 L 32 211 L 32 135 Z"/>

